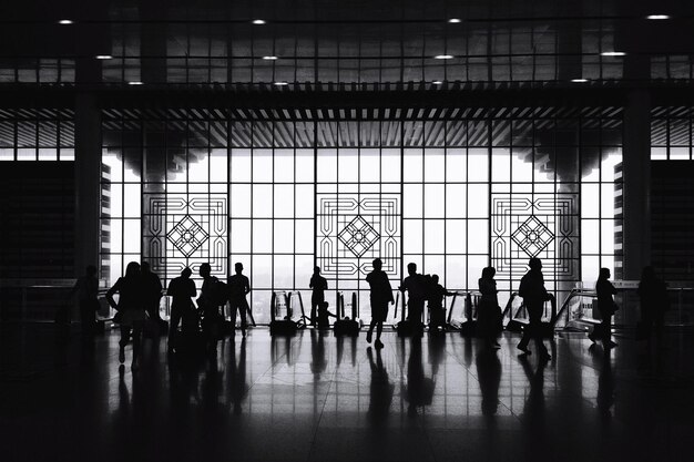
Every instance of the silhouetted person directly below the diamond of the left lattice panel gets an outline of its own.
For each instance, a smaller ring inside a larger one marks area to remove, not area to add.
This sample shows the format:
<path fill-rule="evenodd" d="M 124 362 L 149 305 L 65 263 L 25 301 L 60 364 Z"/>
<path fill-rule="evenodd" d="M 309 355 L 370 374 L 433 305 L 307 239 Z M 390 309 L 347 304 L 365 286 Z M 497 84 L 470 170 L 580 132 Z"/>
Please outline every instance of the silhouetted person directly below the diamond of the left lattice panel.
<path fill-rule="evenodd" d="M 195 306 L 193 297 L 195 297 L 195 281 L 191 279 L 193 271 L 185 267 L 181 271 L 181 276 L 169 283 L 166 295 L 171 300 L 171 326 L 169 327 L 169 351 L 172 352 L 176 346 L 178 336 L 178 324 L 183 320 L 181 328 L 183 338 L 193 333 L 191 330 L 196 329 Z"/>

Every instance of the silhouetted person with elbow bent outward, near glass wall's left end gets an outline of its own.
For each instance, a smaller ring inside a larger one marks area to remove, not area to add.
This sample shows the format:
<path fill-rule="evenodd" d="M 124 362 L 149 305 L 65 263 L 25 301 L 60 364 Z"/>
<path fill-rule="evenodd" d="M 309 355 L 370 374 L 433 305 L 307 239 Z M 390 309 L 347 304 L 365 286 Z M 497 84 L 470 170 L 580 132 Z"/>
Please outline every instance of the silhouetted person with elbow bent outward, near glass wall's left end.
<path fill-rule="evenodd" d="M 113 299 L 113 295 L 119 294 L 119 302 Z M 137 361 L 142 345 L 142 329 L 146 318 L 145 307 L 142 297 L 142 277 L 140 264 L 131 261 L 125 268 L 125 276 L 120 277 L 113 287 L 106 291 L 106 300 L 113 309 L 121 314 L 121 340 L 119 341 L 119 361 L 125 362 L 125 346 L 133 336 L 133 362 L 132 369 L 140 367 Z"/>

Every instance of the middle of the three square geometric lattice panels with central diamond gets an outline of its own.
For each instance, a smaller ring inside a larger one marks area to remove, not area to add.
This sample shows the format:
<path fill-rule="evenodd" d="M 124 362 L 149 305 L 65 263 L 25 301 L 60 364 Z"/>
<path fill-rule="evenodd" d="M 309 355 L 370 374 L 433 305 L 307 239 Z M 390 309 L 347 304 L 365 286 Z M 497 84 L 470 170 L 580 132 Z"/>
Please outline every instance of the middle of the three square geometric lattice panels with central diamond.
<path fill-rule="evenodd" d="M 327 278 L 360 279 L 374 258 L 400 269 L 399 194 L 317 194 L 317 264 Z"/>

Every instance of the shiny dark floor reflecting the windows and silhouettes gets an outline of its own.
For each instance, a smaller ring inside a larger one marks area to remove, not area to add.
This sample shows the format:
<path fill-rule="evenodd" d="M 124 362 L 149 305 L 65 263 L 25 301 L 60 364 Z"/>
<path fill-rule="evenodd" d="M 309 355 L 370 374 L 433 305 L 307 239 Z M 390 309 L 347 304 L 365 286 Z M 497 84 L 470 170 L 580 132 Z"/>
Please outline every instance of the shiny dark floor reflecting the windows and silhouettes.
<path fill-rule="evenodd" d="M 553 360 L 456 332 L 421 340 L 252 330 L 216 358 L 146 340 L 120 368 L 115 331 L 83 343 L 3 327 L 0 458 L 200 461 L 691 461 L 692 335 L 604 351 L 559 335 Z M 531 346 L 534 348 L 534 346 Z"/>

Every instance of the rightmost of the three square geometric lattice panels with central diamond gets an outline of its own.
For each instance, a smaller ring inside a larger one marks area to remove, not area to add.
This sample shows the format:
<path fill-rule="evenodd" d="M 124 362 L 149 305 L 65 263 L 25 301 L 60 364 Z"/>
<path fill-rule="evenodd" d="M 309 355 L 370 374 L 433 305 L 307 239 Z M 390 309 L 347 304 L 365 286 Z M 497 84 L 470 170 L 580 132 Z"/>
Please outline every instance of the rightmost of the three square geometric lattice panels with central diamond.
<path fill-rule="evenodd" d="M 542 260 L 545 279 L 580 280 L 579 194 L 492 194 L 491 261 L 518 280 L 528 259 Z"/>

